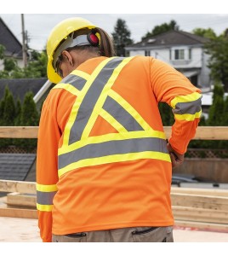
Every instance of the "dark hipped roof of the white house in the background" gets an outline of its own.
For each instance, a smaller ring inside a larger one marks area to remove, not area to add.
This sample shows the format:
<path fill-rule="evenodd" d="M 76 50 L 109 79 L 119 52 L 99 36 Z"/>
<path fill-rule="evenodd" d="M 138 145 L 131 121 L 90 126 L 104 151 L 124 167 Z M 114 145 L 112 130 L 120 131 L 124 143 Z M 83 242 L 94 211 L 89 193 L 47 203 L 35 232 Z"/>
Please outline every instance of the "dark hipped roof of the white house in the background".
<path fill-rule="evenodd" d="M 161 47 L 172 45 L 196 45 L 205 44 L 208 42 L 208 38 L 203 38 L 189 32 L 183 31 L 168 31 L 158 34 L 157 36 L 143 39 L 141 42 L 128 45 L 126 49 L 132 48 L 145 48 L 145 47 Z"/>

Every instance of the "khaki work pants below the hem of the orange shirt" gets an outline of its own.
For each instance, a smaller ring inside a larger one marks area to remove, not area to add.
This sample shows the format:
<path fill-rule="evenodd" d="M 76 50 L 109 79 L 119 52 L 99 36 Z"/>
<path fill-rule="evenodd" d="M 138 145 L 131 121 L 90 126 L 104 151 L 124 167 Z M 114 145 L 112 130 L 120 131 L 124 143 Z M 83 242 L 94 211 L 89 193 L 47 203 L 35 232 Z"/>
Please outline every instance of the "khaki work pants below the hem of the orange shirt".
<path fill-rule="evenodd" d="M 53 242 L 173 242 L 173 227 L 134 227 L 53 235 Z"/>

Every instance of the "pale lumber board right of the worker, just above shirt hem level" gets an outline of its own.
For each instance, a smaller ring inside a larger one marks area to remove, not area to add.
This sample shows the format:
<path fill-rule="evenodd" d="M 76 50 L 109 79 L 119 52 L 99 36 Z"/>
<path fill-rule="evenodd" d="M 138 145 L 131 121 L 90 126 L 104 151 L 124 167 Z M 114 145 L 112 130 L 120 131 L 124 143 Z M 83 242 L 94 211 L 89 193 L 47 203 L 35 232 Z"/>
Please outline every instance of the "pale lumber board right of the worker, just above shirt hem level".
<path fill-rule="evenodd" d="M 228 227 L 228 211 L 176 206 L 172 207 L 172 211 L 174 219 L 227 224 Z"/>

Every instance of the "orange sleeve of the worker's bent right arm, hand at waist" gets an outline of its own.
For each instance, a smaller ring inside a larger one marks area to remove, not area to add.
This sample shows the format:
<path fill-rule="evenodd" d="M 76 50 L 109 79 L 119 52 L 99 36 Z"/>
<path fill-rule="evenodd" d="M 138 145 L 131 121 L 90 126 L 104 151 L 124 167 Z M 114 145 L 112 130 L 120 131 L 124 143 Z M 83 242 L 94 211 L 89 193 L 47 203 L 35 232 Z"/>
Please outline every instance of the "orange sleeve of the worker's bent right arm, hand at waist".
<path fill-rule="evenodd" d="M 174 67 L 154 59 L 151 59 L 151 86 L 157 102 L 167 102 L 174 113 L 169 143 L 175 151 L 185 154 L 202 113 L 201 90 Z"/>

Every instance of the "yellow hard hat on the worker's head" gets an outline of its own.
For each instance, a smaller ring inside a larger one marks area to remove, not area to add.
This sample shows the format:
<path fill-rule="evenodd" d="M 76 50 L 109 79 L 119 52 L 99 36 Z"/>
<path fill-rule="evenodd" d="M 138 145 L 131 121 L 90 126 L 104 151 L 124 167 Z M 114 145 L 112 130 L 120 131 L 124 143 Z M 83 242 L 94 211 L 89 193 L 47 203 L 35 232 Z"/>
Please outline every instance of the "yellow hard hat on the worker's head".
<path fill-rule="evenodd" d="M 58 84 L 62 79 L 58 73 L 54 71 L 53 61 L 54 52 L 60 45 L 60 43 L 67 39 L 71 32 L 75 32 L 79 29 L 88 28 L 92 29 L 96 26 L 90 21 L 85 20 L 80 17 L 69 18 L 61 21 L 58 25 L 54 26 L 53 30 L 50 32 L 47 42 L 47 55 L 48 55 L 48 79 L 54 83 Z"/>

